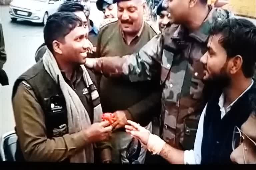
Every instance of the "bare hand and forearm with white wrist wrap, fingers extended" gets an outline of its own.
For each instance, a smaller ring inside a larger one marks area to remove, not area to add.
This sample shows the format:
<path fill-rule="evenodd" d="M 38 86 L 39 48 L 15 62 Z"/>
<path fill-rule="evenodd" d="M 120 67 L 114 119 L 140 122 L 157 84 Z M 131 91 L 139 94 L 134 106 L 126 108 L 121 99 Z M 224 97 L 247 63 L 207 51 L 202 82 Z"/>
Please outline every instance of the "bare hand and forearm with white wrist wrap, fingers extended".
<path fill-rule="evenodd" d="M 184 151 L 178 150 L 162 140 L 159 136 L 150 133 L 149 130 L 143 128 L 139 124 L 127 121 L 126 132 L 130 133 L 132 137 L 139 139 L 153 154 L 158 154 L 172 164 L 184 164 Z"/>

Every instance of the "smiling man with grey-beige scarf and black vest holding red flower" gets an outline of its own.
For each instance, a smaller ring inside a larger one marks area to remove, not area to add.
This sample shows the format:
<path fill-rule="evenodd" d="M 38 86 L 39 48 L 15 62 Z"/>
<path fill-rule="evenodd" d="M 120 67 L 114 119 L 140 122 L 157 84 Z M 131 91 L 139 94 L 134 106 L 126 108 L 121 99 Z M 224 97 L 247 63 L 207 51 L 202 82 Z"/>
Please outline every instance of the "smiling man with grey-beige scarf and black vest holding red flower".
<path fill-rule="evenodd" d="M 16 160 L 111 162 L 112 127 L 101 122 L 94 74 L 84 67 L 92 52 L 76 14 L 57 12 L 44 27 L 43 58 L 14 83 L 12 105 L 18 136 Z"/>

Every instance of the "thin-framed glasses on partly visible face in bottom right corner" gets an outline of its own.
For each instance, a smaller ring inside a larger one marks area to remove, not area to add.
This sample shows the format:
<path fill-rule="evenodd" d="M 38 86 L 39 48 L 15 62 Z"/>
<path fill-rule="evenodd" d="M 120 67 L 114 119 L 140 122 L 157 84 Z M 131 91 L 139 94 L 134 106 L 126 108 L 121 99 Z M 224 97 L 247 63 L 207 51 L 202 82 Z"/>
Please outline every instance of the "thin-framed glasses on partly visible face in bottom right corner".
<path fill-rule="evenodd" d="M 245 164 L 247 164 L 246 161 L 246 154 L 245 152 L 247 152 L 248 147 L 245 146 L 244 144 L 244 140 L 249 139 L 250 142 L 252 142 L 255 146 L 256 143 L 254 140 L 252 140 L 247 134 L 245 134 L 240 128 L 238 128 L 237 126 L 235 126 L 234 131 L 233 131 L 233 139 L 232 139 L 232 149 L 235 150 L 238 146 L 240 146 L 241 144 L 243 145 L 243 158 L 244 158 L 244 162 Z"/>

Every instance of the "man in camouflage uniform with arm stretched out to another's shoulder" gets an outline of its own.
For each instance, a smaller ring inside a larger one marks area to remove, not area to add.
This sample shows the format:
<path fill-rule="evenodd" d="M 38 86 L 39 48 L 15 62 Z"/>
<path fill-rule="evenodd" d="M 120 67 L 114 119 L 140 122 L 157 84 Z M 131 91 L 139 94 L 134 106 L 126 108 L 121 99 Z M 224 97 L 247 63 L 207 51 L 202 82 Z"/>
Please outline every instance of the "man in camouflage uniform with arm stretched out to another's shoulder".
<path fill-rule="evenodd" d="M 210 25 L 229 14 L 207 5 L 207 0 L 164 0 L 174 24 L 149 41 L 138 53 L 123 57 L 88 59 L 86 65 L 106 76 L 130 81 L 154 79 L 161 74 L 160 135 L 166 143 L 192 149 L 206 89 L 200 57 L 207 51 Z"/>

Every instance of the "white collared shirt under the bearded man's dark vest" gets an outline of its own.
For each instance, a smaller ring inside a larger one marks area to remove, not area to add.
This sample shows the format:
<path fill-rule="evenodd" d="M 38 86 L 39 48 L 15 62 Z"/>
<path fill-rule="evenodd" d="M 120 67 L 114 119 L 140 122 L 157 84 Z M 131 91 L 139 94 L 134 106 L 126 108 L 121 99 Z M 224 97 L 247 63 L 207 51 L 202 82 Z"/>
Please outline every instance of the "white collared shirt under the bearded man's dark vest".
<path fill-rule="evenodd" d="M 224 107 L 224 93 L 221 94 L 219 98 L 219 106 L 221 111 L 221 119 L 228 113 L 231 109 L 231 107 L 234 105 L 234 103 L 241 97 L 243 94 L 248 91 L 252 85 L 253 80 L 250 86 L 238 97 L 235 101 L 233 101 L 227 108 Z M 198 128 L 196 132 L 196 139 L 194 143 L 194 149 L 192 150 L 185 150 L 184 152 L 184 163 L 185 164 L 200 164 L 201 163 L 201 145 L 202 145 L 202 139 L 203 139 L 203 125 L 204 125 L 204 117 L 205 117 L 205 111 L 207 108 L 207 104 L 205 105 L 205 108 L 200 116 Z"/>

